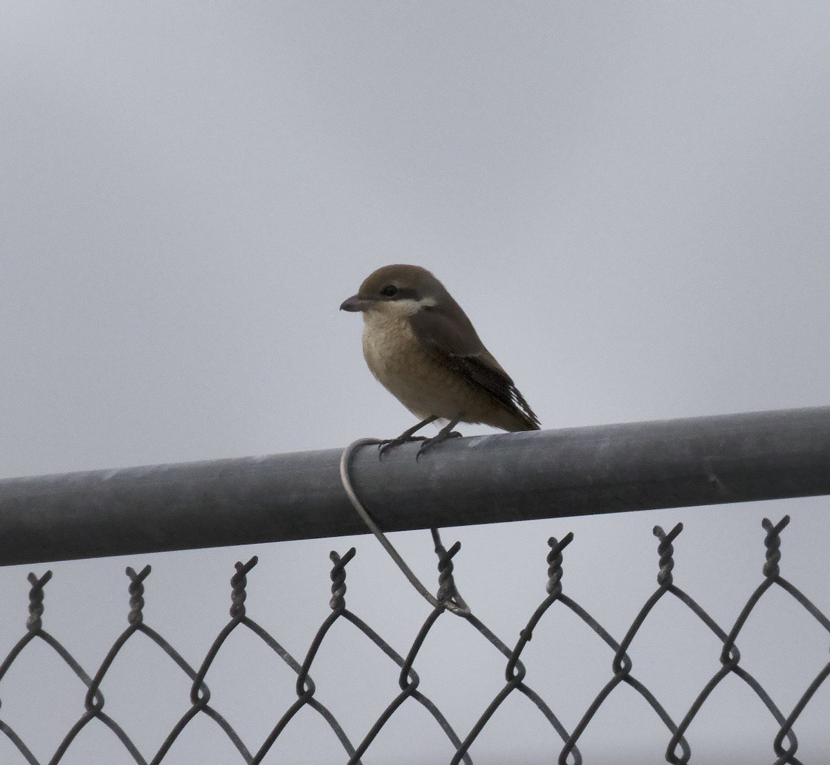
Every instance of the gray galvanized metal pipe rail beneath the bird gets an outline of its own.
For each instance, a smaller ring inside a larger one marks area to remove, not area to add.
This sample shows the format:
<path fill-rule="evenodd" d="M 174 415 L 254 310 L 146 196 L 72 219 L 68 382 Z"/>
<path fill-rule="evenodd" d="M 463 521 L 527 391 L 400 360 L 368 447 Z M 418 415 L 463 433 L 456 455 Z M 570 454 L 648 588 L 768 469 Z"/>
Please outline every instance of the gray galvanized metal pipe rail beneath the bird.
<path fill-rule="evenodd" d="M 385 531 L 830 494 L 830 407 L 365 446 Z M 340 450 L 0 480 L 0 565 L 364 534 Z"/>

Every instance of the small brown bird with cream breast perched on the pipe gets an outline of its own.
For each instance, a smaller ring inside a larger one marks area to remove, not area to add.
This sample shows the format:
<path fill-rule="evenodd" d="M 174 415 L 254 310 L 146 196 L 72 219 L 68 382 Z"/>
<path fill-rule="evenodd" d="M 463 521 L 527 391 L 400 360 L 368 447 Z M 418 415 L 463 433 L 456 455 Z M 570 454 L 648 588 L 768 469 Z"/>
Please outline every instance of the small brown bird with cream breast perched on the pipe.
<path fill-rule="evenodd" d="M 363 353 L 369 370 L 419 421 L 381 441 L 380 456 L 406 441 L 432 446 L 461 436 L 459 422 L 503 431 L 536 431 L 539 418 L 515 387 L 452 295 L 421 266 L 383 266 L 366 277 L 340 310 L 362 313 Z M 437 436 L 415 436 L 434 421 Z"/>

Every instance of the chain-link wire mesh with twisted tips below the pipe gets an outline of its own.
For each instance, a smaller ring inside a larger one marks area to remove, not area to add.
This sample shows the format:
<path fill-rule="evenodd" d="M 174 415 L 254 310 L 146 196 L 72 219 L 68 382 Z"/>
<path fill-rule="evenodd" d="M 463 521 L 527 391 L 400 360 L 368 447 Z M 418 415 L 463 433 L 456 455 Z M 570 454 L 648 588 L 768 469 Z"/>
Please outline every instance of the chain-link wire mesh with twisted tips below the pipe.
<path fill-rule="evenodd" d="M 155 763 L 165 761 L 170 749 L 173 747 L 173 743 L 177 741 L 188 725 L 201 715 L 210 719 L 227 736 L 227 739 L 232 743 L 232 747 L 238 753 L 238 762 L 261 763 L 274 747 L 277 739 L 283 735 L 287 726 L 291 724 L 291 720 L 295 719 L 301 709 L 308 708 L 319 715 L 320 719 L 336 736 L 343 749 L 342 762 L 354 765 L 354 763 L 361 763 L 361 758 L 364 758 L 364 755 L 372 747 L 373 742 L 378 737 L 378 733 L 382 731 L 384 726 L 388 724 L 389 720 L 393 718 L 393 715 L 403 704 L 420 704 L 432 716 L 432 719 L 434 719 L 438 728 L 442 731 L 442 735 L 446 737 L 447 744 L 453 752 L 450 760 L 452 765 L 456 765 L 456 763 L 471 765 L 473 760 L 470 750 L 476 738 L 480 736 L 482 730 L 496 713 L 496 710 L 505 703 L 505 700 L 511 694 L 521 694 L 535 705 L 536 709 L 539 710 L 539 713 L 547 721 L 547 724 L 555 731 L 558 740 L 561 742 L 558 751 L 550 753 L 548 761 L 562 763 L 562 765 L 565 765 L 565 763 L 567 765 L 580 765 L 583 762 L 583 758 L 579 751 L 579 742 L 585 729 L 598 713 L 598 710 L 603 707 L 603 704 L 606 704 L 613 690 L 620 684 L 626 684 L 647 702 L 662 726 L 665 727 L 666 762 L 690 763 L 692 761 L 692 755 L 695 752 L 695 742 L 689 735 L 690 726 L 701 713 L 701 709 L 706 706 L 707 699 L 711 698 L 713 691 L 727 677 L 732 676 L 745 684 L 760 699 L 764 708 L 769 712 L 769 716 L 774 721 L 775 732 L 769 741 L 769 762 L 775 763 L 775 765 L 780 765 L 780 763 L 800 763 L 801 760 L 797 757 L 798 738 L 796 737 L 798 719 L 808 707 L 808 704 L 818 689 L 828 679 L 828 675 L 830 675 L 830 661 L 803 687 L 795 704 L 789 708 L 782 708 L 779 704 L 776 704 L 774 694 L 768 692 L 759 680 L 741 665 L 741 656 L 738 649 L 738 639 L 749 615 L 758 606 L 761 598 L 764 597 L 764 593 L 773 587 L 779 588 L 780 591 L 786 593 L 794 602 L 798 603 L 800 607 L 803 607 L 803 610 L 809 617 L 812 617 L 812 620 L 818 624 L 820 629 L 830 636 L 830 620 L 828 620 L 828 617 L 813 602 L 808 600 L 798 587 L 795 587 L 791 582 L 781 576 L 779 569 L 779 561 L 781 559 L 780 535 L 788 523 L 789 516 L 784 517 L 778 524 L 773 524 L 768 519 L 764 519 L 763 525 L 766 532 L 764 546 L 766 557 L 763 565 L 763 578 L 754 589 L 754 592 L 749 596 L 749 599 L 740 610 L 734 623 L 728 626 L 723 626 L 715 621 L 700 603 L 696 602 L 694 598 L 674 582 L 672 574 L 672 569 L 674 568 L 674 543 L 681 533 L 682 525 L 677 524 L 668 533 L 664 532 L 659 526 L 655 527 L 654 534 L 657 537 L 659 563 L 657 588 L 647 597 L 621 640 L 615 639 L 594 616 L 564 592 L 564 552 L 572 541 L 573 534 L 568 534 L 562 539 L 549 539 L 547 582 L 544 584 L 545 597 L 540 602 L 539 607 L 535 609 L 535 612 L 527 619 L 525 625 L 520 630 L 518 640 L 515 641 L 512 647 L 496 636 L 469 609 L 463 609 L 461 612 L 456 609 L 455 616 L 448 612 L 447 605 L 457 603 L 459 598 L 453 579 L 452 562 L 453 557 L 458 552 L 459 545 L 455 544 L 447 550 L 443 547 L 440 537 L 437 535 L 435 539 L 439 574 L 439 587 L 437 591 L 438 605 L 429 613 L 405 654 L 398 653 L 398 651 L 394 650 L 387 641 L 384 641 L 378 631 L 375 631 L 372 626 L 369 626 L 369 624 L 346 607 L 346 567 L 354 558 L 354 548 L 349 549 L 342 556 L 335 552 L 330 553 L 331 562 L 333 563 L 333 567 L 331 568 L 331 612 L 316 631 L 305 655 L 301 657 L 291 655 L 269 631 L 266 631 L 265 628 L 247 615 L 247 577 L 256 566 L 257 558 L 251 558 L 247 563 L 237 563 L 236 572 L 231 578 L 232 605 L 230 609 L 230 621 L 227 621 L 227 624 L 218 633 L 215 640 L 212 641 L 212 645 L 207 650 L 207 654 L 198 665 L 188 663 L 170 642 L 144 621 L 144 587 L 150 573 L 149 566 L 146 566 L 139 572 L 136 572 L 133 568 L 127 568 L 126 573 L 129 577 L 129 626 L 118 636 L 105 656 L 105 659 L 94 671 L 85 670 L 76 658 L 71 655 L 71 652 L 61 644 L 61 641 L 55 636 L 52 636 L 44 628 L 42 621 L 44 613 L 44 593 L 45 587 L 52 575 L 49 571 L 40 577 L 35 573 L 30 573 L 28 581 L 31 584 L 31 590 L 29 592 L 29 616 L 26 622 L 26 632 L 12 647 L 12 650 L 9 651 L 6 658 L 2 661 L 2 665 L 0 665 L 0 699 L 2 699 L 3 678 L 27 646 L 34 641 L 39 641 L 44 646 L 47 646 L 49 650 L 54 651 L 54 654 L 81 680 L 85 690 L 82 703 L 81 699 L 78 699 L 79 716 L 76 722 L 71 725 L 71 728 L 66 732 L 60 744 L 48 759 L 38 759 L 35 756 L 32 752 L 31 742 L 27 743 L 24 741 L 22 736 L 12 728 L 12 725 L 6 719 L 3 719 L 2 708 L 0 708 L 0 731 L 7 738 L 7 741 L 12 744 L 12 747 L 20 753 L 26 763 L 30 763 L 30 765 L 45 765 L 48 762 L 50 765 L 56 765 L 56 763 L 60 763 L 65 758 L 67 751 L 71 748 L 71 744 L 79 737 L 86 726 L 97 721 L 97 724 L 104 725 L 115 734 L 123 745 L 124 752 L 129 755 L 129 758 L 132 758 L 132 761 L 139 763 L 139 765 L 148 765 L 148 763 L 154 763 L 155 765 Z M 540 588 L 543 582 L 544 578 L 540 577 Z M 658 699 L 657 695 L 652 693 L 652 690 L 642 680 L 637 678 L 633 661 L 628 654 L 628 650 L 632 646 L 632 642 L 637 637 L 638 632 L 641 631 L 643 624 L 647 621 L 657 602 L 660 602 L 663 598 L 673 598 L 676 602 L 681 603 L 683 607 L 686 607 L 715 636 L 720 646 L 719 654 L 712 656 L 710 680 L 696 694 L 685 714 L 675 718 L 666 711 L 666 699 Z M 545 689 L 531 685 L 532 679 L 528 676 L 525 664 L 521 660 L 522 653 L 525 651 L 526 646 L 528 646 L 534 632 L 544 628 L 544 622 L 542 620 L 546 613 L 552 609 L 561 608 L 572 612 L 574 616 L 598 636 L 603 644 L 607 646 L 609 659 L 607 682 L 605 682 L 605 685 L 603 685 L 602 689 L 593 698 L 593 701 L 588 704 L 588 708 L 584 710 L 578 723 L 572 727 L 565 725 L 562 721 L 561 714 L 557 714 L 557 711 L 552 709 L 545 701 Z M 439 709 L 437 704 L 419 689 L 420 680 L 416 670 L 419 652 L 438 620 L 457 617 L 464 619 L 472 630 L 475 630 L 491 646 L 494 646 L 500 655 L 504 657 L 505 662 L 502 687 L 493 698 L 481 701 L 480 714 L 475 723 L 469 729 L 463 730 L 459 729 L 457 724 L 453 724 L 452 720 L 448 719 L 442 713 L 442 710 Z M 341 724 L 332 711 L 318 698 L 317 686 L 314 680 L 312 680 L 315 657 L 319 655 L 321 646 L 327 641 L 327 636 L 330 635 L 332 626 L 340 620 L 349 621 L 376 646 L 380 653 L 385 655 L 398 668 L 398 692 L 388 701 L 382 713 L 374 720 L 374 724 L 371 724 L 366 730 L 359 731 L 357 735 L 354 735 L 354 733 L 352 735 L 346 733 L 345 728 L 347 726 Z M 222 646 L 225 645 L 228 637 L 231 636 L 232 632 L 237 630 L 250 631 L 253 636 L 256 636 L 268 649 L 273 651 L 277 660 L 284 662 L 295 675 L 295 700 L 287 709 L 272 710 L 274 724 L 271 732 L 255 747 L 251 747 L 249 743 L 243 741 L 240 733 L 212 705 L 212 696 L 207 685 L 207 677 L 212 665 L 217 660 L 217 655 L 222 651 Z M 189 699 L 182 699 L 183 712 L 178 722 L 168 731 L 161 746 L 152 753 L 139 751 L 139 746 L 125 732 L 125 728 L 122 725 L 124 721 L 122 720 L 120 723 L 108 714 L 105 709 L 105 696 L 102 692 L 102 684 L 113 662 L 137 633 L 144 634 L 155 646 L 158 646 L 159 650 L 163 651 L 164 654 L 173 660 L 174 664 L 178 666 L 178 670 L 187 677 L 190 685 Z M 830 733 L 828 733 L 828 736 L 830 736 Z"/>

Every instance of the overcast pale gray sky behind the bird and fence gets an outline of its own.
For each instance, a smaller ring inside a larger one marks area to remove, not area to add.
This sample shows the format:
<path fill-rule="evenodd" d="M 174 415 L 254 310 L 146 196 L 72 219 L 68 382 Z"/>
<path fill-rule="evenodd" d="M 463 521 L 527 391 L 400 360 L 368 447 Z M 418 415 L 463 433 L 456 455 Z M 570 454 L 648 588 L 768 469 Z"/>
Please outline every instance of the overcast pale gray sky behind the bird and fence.
<path fill-rule="evenodd" d="M 827 404 L 828 83 L 824 2 L 7 0 L 0 475 L 397 434 L 412 417 L 365 368 L 359 319 L 337 311 L 391 262 L 443 280 L 544 427 Z M 566 592 L 619 639 L 654 587 L 653 524 L 685 522 L 677 581 L 728 626 L 760 581 L 760 519 L 785 513 L 784 573 L 830 612 L 827 499 L 452 529 L 445 541 L 461 539 L 459 586 L 512 643 L 544 597 L 545 540 L 573 529 Z M 432 576 L 426 532 L 395 541 Z M 427 607 L 369 538 L 56 564 L 46 626 L 94 670 L 126 625 L 123 568 L 149 562 L 148 620 L 198 664 L 227 618 L 232 563 L 257 553 L 251 616 L 301 660 L 325 618 L 327 551 L 352 543 L 349 604 L 405 653 Z M 27 570 L 0 572 L 15 615 L 0 624 L 2 655 L 22 635 Z M 789 710 L 828 636 L 784 597 L 764 609 L 742 655 Z M 718 649 L 680 609 L 656 616 L 632 649 L 635 674 L 679 718 Z M 503 663 L 442 621 L 417 668 L 466 732 Z M 611 656 L 554 617 L 532 647 L 529 679 L 572 728 Z M 126 679 L 134 661 L 145 692 L 114 682 L 107 710 L 150 756 L 182 707 L 153 701 L 169 671 L 130 650 L 113 671 Z M 359 740 L 379 714 L 354 704 L 364 666 L 385 685 L 361 692 L 384 703 L 396 673 L 346 630 L 327 650 L 315 680 Z M 252 748 L 293 693 L 291 673 L 257 651 L 240 637 L 208 678 Z M 21 665 L 0 699 L 48 759 L 82 694 L 42 656 L 37 689 L 22 690 Z M 170 694 L 184 701 L 179 685 Z M 757 699 L 737 682 L 717 693 L 691 729 L 693 762 L 771 762 Z M 32 707 L 27 722 L 27 703 L 56 722 L 32 723 Z M 823 688 L 797 728 L 805 762 L 830 755 L 828 711 Z M 398 714 L 364 762 L 442 761 L 437 728 L 407 705 Z M 309 730 L 319 751 L 297 749 Z M 339 762 L 320 730 L 294 728 L 266 762 Z M 129 762 L 107 734 L 84 735 L 63 762 Z M 519 699 L 480 741 L 476 763 L 559 750 Z M 665 741 L 619 689 L 582 748 L 586 762 L 657 763 Z M 207 721 L 186 742 L 204 765 L 230 761 Z M 0 760 L 14 756 L 0 739 Z M 192 756 L 182 746 L 169 762 Z"/>

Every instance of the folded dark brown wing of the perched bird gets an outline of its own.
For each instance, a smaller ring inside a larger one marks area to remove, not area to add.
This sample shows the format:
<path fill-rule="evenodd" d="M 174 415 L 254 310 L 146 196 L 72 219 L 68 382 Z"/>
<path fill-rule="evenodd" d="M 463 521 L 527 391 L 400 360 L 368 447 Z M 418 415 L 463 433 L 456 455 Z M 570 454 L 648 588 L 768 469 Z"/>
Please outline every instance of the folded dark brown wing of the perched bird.
<path fill-rule="evenodd" d="M 451 311 L 452 316 L 435 309 L 414 314 L 410 321 L 418 342 L 438 363 L 461 374 L 471 387 L 486 392 L 526 430 L 539 430 L 539 418 L 510 375 L 481 343 L 470 319 L 457 304 L 452 305 Z"/>

